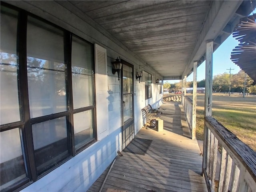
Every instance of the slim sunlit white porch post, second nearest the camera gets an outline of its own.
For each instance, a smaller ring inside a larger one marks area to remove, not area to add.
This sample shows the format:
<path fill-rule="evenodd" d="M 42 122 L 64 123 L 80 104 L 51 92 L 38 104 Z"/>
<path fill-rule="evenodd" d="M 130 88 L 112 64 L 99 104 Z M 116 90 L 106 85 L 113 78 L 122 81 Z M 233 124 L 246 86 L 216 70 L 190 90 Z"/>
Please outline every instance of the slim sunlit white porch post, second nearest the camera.
<path fill-rule="evenodd" d="M 196 138 L 196 92 L 197 92 L 197 61 L 194 61 L 193 68 L 193 110 L 192 110 L 192 139 Z"/>

